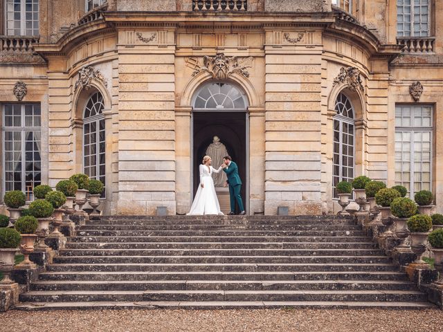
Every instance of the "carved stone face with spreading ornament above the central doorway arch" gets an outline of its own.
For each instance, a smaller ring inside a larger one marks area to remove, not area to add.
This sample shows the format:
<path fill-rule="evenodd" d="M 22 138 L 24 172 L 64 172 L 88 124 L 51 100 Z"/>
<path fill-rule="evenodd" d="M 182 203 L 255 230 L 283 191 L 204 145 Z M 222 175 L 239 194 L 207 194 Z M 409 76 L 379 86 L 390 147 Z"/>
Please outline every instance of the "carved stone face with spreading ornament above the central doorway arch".
<path fill-rule="evenodd" d="M 246 69 L 252 67 L 252 62 L 253 57 L 247 57 L 239 61 L 238 57 L 226 57 L 224 53 L 217 53 L 215 57 L 204 56 L 203 66 L 199 64 L 198 59 L 189 58 L 187 60 L 188 65 L 195 69 L 192 76 L 206 71 L 217 80 L 226 80 L 226 78 L 233 73 L 239 73 L 244 77 L 249 77 L 249 72 Z"/>

